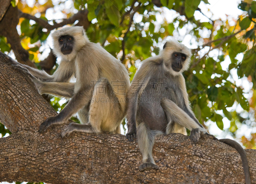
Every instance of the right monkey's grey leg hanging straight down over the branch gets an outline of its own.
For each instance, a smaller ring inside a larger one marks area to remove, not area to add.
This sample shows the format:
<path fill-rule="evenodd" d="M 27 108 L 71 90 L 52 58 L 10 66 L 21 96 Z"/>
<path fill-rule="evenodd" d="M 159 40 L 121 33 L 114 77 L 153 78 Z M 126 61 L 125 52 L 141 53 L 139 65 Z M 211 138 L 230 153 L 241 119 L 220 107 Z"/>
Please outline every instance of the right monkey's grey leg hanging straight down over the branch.
<path fill-rule="evenodd" d="M 152 156 L 152 149 L 155 142 L 156 133 L 161 134 L 159 131 L 152 131 L 143 122 L 137 127 L 137 140 L 140 152 L 142 154 L 142 162 L 139 166 L 140 171 L 148 171 L 150 169 L 159 169 Z"/>

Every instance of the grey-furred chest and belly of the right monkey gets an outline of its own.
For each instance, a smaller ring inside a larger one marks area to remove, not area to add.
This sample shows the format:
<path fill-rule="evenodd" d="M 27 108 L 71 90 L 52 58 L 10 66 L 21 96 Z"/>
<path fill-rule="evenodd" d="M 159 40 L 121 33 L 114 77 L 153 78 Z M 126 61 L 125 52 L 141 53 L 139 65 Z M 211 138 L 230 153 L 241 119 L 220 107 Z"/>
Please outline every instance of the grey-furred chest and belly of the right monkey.
<path fill-rule="evenodd" d="M 163 64 L 158 63 L 147 72 L 150 72 L 150 78 L 138 100 L 136 121 L 165 133 L 168 122 L 160 102 L 163 98 L 170 99 L 184 109 L 185 102 L 179 82 L 181 76 L 172 76 L 164 70 Z"/>

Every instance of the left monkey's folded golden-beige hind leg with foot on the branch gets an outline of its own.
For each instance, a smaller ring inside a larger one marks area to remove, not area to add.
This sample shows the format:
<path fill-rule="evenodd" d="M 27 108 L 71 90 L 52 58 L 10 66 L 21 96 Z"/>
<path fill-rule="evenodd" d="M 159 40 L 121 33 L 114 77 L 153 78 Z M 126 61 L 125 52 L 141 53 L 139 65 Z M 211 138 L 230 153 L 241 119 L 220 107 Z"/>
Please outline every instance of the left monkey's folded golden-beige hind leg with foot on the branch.
<path fill-rule="evenodd" d="M 79 115 L 80 117 L 80 115 Z M 119 103 L 108 79 L 101 78 L 95 85 L 89 109 L 88 124 L 71 123 L 64 129 L 61 136 L 68 136 L 71 132 L 86 133 L 121 133 L 121 121 L 124 112 L 119 108 Z M 118 131 L 118 132 L 117 132 Z"/>

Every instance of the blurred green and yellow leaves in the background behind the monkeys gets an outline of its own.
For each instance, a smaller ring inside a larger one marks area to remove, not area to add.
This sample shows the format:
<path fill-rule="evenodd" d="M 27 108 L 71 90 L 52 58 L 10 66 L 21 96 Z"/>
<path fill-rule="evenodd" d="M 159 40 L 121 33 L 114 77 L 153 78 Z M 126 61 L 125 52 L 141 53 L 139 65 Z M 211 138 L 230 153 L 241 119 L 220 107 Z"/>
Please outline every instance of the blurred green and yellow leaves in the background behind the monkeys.
<path fill-rule="evenodd" d="M 159 3 L 161 8 L 156 7 Z M 223 118 L 226 117 L 230 121 L 230 128 L 225 131 L 235 136 L 241 125 L 246 124 L 249 128 L 256 125 L 254 91 L 245 91 L 242 85 L 236 85 L 236 80 L 233 80 L 237 76 L 238 79 L 251 82 L 253 87 L 256 85 L 256 2 L 246 0 L 238 5 L 245 13 L 234 20 L 235 24 L 221 19 L 209 19 L 207 22 L 197 20 L 195 12 L 201 13 L 198 8 L 200 3 L 208 4 L 208 1 L 159 0 L 157 3 L 156 0 L 75 0 L 70 8 L 65 8 L 68 3 L 62 1 L 48 0 L 45 4 L 39 4 L 36 0 L 33 7 L 29 7 L 25 1 L 19 2 L 17 6 L 22 12 L 36 14 L 51 24 L 60 21 L 45 18 L 46 10 L 52 7 L 62 9 L 64 18 L 87 8 L 87 18 L 91 21 L 86 30 L 88 37 L 92 42 L 100 42 L 108 52 L 122 59 L 130 71 L 131 80 L 140 61 L 158 54 L 164 39 L 175 35 L 175 39 L 182 41 L 186 35 L 190 35 L 188 43 L 194 48 L 192 64 L 184 76 L 193 111 L 200 123 L 211 120 L 221 130 L 224 128 Z M 172 20 L 166 18 L 166 12 L 172 13 Z M 161 16 L 163 21 L 157 21 L 157 16 Z M 22 46 L 29 51 L 30 58 L 37 62 L 38 55 L 43 52 L 40 47 L 49 33 L 39 23 L 32 23 L 20 18 L 20 38 L 26 43 Z M 186 31 L 186 35 L 180 33 L 181 29 Z M 207 36 L 203 36 L 207 32 Z M 0 40 L 0 49 L 9 52 L 10 46 L 3 44 L 6 40 L 3 37 Z M 125 57 L 122 58 L 123 54 Z M 228 63 L 229 58 L 230 63 L 226 67 L 222 66 Z M 65 105 L 58 104 L 58 98 L 51 101 L 54 101 L 52 103 L 56 111 Z M 236 106 L 241 106 L 242 110 L 237 112 Z M 252 137 L 255 137 L 254 132 Z M 250 140 L 254 144 L 251 147 L 255 148 L 255 139 Z"/>

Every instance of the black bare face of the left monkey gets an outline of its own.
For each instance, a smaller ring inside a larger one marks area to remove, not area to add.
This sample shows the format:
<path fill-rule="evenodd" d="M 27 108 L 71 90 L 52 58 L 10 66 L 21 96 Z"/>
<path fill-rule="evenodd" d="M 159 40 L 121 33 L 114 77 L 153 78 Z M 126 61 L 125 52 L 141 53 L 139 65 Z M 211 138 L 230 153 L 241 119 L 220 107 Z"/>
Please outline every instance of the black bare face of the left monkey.
<path fill-rule="evenodd" d="M 68 55 L 73 50 L 74 38 L 70 35 L 60 36 L 59 44 L 61 46 L 61 52 L 64 55 Z"/>

